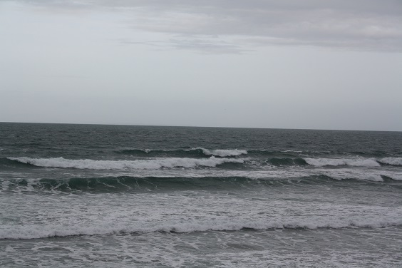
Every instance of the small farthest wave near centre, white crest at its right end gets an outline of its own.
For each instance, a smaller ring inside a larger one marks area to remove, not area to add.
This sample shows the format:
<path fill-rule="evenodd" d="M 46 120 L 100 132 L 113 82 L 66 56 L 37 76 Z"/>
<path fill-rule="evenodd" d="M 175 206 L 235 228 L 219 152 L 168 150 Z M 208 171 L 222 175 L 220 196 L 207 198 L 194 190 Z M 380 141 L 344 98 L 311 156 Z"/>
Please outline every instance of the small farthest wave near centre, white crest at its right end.
<path fill-rule="evenodd" d="M 192 157 L 209 157 L 216 156 L 220 158 L 247 155 L 247 150 L 238 149 L 217 149 L 209 150 L 205 148 L 190 148 L 190 149 L 165 149 L 165 150 L 153 150 L 153 149 L 123 149 L 118 153 L 138 155 L 138 156 L 192 156 Z"/>

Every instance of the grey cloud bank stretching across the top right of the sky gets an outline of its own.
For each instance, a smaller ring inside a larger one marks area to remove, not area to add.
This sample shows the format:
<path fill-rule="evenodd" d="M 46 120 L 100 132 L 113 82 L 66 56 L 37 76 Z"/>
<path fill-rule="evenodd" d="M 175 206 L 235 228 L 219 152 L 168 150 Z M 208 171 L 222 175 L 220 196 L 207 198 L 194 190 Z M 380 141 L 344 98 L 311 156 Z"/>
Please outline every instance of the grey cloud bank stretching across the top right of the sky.
<path fill-rule="evenodd" d="M 25 2 L 53 9 L 120 11 L 128 16 L 129 27 L 181 36 L 167 40 L 167 48 L 241 53 L 250 46 L 307 45 L 402 52 L 400 0 Z M 209 36 L 218 37 L 212 41 Z"/>

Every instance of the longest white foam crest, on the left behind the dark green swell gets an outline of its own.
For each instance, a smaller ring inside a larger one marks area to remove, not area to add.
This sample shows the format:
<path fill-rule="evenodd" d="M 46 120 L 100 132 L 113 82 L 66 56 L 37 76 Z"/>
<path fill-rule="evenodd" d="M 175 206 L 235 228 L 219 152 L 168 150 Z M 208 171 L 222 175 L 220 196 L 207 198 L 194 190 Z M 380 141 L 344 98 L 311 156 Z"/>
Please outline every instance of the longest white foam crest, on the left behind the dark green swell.
<path fill-rule="evenodd" d="M 78 168 L 90 170 L 158 170 L 160 168 L 196 168 L 197 166 L 216 167 L 223 163 L 244 163 L 245 159 L 226 159 L 211 156 L 207 159 L 195 158 L 157 158 L 146 160 L 71 160 L 64 158 L 8 158 L 21 163 L 44 168 Z"/>

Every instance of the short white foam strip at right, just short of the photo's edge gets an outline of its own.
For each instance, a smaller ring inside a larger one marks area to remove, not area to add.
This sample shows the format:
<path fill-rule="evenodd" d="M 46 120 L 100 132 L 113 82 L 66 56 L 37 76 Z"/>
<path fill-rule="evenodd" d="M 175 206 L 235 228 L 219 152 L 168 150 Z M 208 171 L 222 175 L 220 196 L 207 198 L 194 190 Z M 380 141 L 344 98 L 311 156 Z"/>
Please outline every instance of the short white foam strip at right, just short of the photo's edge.
<path fill-rule="evenodd" d="M 325 165 L 352 165 L 359 167 L 379 167 L 380 164 L 374 158 L 304 158 L 307 164 L 316 167 Z"/>

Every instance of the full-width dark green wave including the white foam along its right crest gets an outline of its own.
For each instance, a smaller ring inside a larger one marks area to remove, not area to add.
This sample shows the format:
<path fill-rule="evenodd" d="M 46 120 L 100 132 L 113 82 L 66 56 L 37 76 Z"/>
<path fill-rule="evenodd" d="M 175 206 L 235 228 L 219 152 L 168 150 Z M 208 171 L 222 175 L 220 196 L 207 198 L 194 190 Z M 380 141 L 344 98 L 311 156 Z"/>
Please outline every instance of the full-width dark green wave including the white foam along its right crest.
<path fill-rule="evenodd" d="M 234 190 L 244 187 L 283 187 L 302 185 L 339 185 L 341 187 L 353 181 L 392 183 L 393 187 L 402 187 L 396 181 L 402 180 L 402 173 L 349 172 L 348 170 L 319 170 L 314 175 L 284 174 L 258 172 L 229 172 L 220 177 L 200 174 L 177 176 L 117 175 L 105 177 L 69 177 L 61 179 L 9 179 L 0 180 L 1 192 L 149 192 L 172 190 Z M 247 177 L 247 175 L 249 175 Z M 303 176 L 304 175 L 304 176 Z M 293 177 L 292 177 L 293 176 Z"/>

